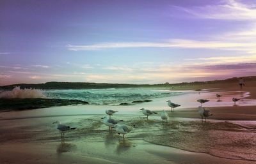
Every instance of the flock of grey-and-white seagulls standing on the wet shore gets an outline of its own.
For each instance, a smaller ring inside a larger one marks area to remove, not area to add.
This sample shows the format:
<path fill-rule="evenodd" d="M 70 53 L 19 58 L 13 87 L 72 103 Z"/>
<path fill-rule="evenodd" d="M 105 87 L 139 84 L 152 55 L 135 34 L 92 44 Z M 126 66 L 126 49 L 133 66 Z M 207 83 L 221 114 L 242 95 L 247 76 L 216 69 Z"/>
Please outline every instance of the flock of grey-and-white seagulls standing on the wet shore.
<path fill-rule="evenodd" d="M 221 94 L 216 94 L 216 97 L 218 98 L 218 101 L 220 101 L 221 96 L 222 96 Z M 232 98 L 232 101 L 234 101 L 234 105 L 236 105 L 236 102 L 239 101 L 239 100 L 241 100 L 241 98 Z M 206 122 L 207 117 L 212 116 L 212 114 L 211 114 L 210 110 L 207 110 L 206 108 L 203 107 L 203 103 L 206 103 L 209 100 L 198 99 L 197 101 L 198 101 L 198 103 L 201 103 L 201 106 L 198 107 L 198 114 L 201 117 L 201 121 L 203 122 L 203 119 L 204 119 L 205 122 Z M 167 102 L 168 107 L 171 108 L 171 112 L 173 112 L 173 108 L 180 107 L 179 104 L 172 103 L 171 100 L 168 100 L 166 102 Z M 148 116 L 150 116 L 152 114 L 157 114 L 157 112 L 154 112 L 154 111 L 151 111 L 151 110 L 148 110 L 148 109 L 145 109 L 145 108 L 141 108 L 140 110 L 142 111 L 142 113 L 145 116 L 147 116 L 147 120 L 148 120 Z M 113 116 L 113 114 L 115 114 L 116 112 L 118 112 L 118 111 L 117 110 L 106 110 L 106 114 L 108 116 L 104 116 L 104 117 L 101 118 L 102 123 L 105 124 L 106 126 L 108 126 L 108 130 L 115 129 L 116 133 L 118 133 L 118 135 L 122 134 L 123 138 L 124 138 L 124 135 L 129 133 L 130 131 L 132 131 L 132 129 L 135 127 L 135 125 L 128 126 L 128 125 L 125 125 L 125 124 L 118 124 L 118 123 L 122 122 L 123 120 L 111 119 L 111 116 Z M 163 110 L 161 112 L 162 122 L 164 123 L 164 120 L 166 120 L 166 123 L 167 123 L 168 118 L 169 118 L 168 113 L 165 110 Z M 76 129 L 76 128 L 70 128 L 70 126 L 66 126 L 64 124 L 61 124 L 60 121 L 56 121 L 53 124 L 56 124 L 57 130 L 61 131 L 61 140 L 64 139 L 64 133 L 66 131 Z"/>

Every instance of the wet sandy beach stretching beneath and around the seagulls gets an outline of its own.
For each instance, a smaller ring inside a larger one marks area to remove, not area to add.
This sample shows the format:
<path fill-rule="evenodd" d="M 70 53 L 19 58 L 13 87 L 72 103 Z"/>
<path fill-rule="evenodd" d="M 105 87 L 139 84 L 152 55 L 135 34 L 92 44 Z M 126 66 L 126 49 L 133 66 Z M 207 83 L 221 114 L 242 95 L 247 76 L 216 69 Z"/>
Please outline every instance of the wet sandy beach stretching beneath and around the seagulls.
<path fill-rule="evenodd" d="M 0 163 L 256 163 L 256 87 L 207 86 L 202 91 L 155 98 L 135 105 L 72 105 L 0 113 Z M 193 86 L 192 86 L 193 87 Z M 191 89 L 191 88 L 189 88 Z M 200 93 L 199 93 L 200 92 Z M 215 94 L 223 94 L 217 101 Z M 237 105 L 233 96 L 243 98 Z M 198 98 L 213 116 L 202 123 Z M 181 106 L 170 112 L 166 101 Z M 140 111 L 158 112 L 148 120 Z M 101 117 L 118 110 L 113 119 L 135 128 L 122 138 L 108 131 Z M 168 111 L 168 123 L 160 113 Z M 76 130 L 61 134 L 54 121 Z"/>

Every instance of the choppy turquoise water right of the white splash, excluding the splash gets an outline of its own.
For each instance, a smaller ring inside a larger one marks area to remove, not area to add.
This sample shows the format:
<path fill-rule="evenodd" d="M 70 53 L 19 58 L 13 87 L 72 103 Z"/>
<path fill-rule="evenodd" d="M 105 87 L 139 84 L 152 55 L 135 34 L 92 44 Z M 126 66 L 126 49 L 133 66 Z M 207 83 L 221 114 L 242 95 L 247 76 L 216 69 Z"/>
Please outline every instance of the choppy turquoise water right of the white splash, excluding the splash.
<path fill-rule="evenodd" d="M 120 103 L 131 103 L 136 100 L 150 100 L 185 94 L 166 90 L 154 89 L 66 89 L 46 90 L 47 98 L 60 98 L 68 100 L 88 101 L 90 104 L 110 105 Z"/>

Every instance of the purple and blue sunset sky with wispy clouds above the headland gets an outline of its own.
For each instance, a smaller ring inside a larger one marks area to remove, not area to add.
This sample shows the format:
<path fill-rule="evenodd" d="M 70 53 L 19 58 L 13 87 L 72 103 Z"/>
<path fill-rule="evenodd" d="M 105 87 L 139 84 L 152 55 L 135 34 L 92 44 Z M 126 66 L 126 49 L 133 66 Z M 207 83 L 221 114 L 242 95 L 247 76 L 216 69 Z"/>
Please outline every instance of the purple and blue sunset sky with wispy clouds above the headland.
<path fill-rule="evenodd" d="M 0 86 L 251 75 L 255 0 L 0 1 Z"/>

